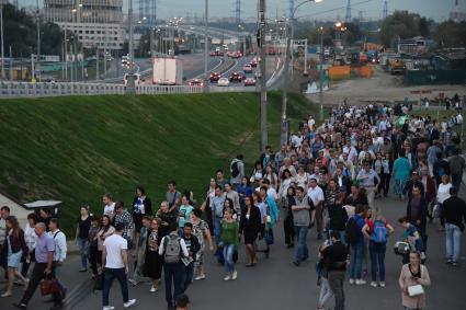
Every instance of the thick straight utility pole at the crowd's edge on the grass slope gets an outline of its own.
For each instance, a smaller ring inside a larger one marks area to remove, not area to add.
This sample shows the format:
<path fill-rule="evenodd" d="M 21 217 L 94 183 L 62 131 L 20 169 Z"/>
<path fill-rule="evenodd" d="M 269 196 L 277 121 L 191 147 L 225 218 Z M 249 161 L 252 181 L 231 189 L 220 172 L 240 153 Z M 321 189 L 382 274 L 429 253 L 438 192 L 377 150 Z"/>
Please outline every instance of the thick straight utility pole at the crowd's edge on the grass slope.
<path fill-rule="evenodd" d="M 265 0 L 259 0 L 260 16 L 260 70 L 261 70 L 261 151 L 265 151 L 269 143 L 268 112 L 266 112 L 266 77 L 265 77 Z"/>

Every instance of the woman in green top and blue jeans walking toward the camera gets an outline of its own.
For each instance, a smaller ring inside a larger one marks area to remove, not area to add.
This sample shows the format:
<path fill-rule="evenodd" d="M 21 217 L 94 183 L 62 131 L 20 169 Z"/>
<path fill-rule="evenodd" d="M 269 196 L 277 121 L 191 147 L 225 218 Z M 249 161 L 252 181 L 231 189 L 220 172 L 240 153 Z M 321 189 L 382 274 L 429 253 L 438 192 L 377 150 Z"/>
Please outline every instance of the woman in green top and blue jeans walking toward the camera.
<path fill-rule="evenodd" d="M 232 208 L 226 208 L 221 222 L 221 243 L 224 244 L 225 269 L 227 272 L 224 280 L 235 280 L 238 277 L 234 256 L 238 246 L 239 227 L 238 221 L 232 218 Z"/>

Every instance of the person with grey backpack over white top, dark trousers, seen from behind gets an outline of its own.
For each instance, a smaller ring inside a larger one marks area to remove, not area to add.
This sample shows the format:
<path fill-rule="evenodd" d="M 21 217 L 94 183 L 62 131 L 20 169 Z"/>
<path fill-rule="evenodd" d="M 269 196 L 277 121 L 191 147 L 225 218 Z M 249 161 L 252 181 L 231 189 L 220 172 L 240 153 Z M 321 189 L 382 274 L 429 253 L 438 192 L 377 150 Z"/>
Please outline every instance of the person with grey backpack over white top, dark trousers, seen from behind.
<path fill-rule="evenodd" d="M 169 309 L 173 309 L 174 298 L 184 292 L 184 265 L 181 257 L 190 255 L 186 243 L 178 236 L 177 222 L 170 223 L 170 233 L 163 237 L 160 242 L 159 255 L 163 255 L 164 261 L 163 276 L 167 305 Z"/>

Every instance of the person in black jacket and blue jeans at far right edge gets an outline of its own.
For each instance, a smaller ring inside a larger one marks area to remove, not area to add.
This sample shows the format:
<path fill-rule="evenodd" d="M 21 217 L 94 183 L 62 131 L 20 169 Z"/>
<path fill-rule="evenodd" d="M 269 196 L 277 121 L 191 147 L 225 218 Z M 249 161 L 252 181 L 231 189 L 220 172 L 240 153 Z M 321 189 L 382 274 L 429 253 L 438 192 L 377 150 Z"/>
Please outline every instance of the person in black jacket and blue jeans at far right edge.
<path fill-rule="evenodd" d="M 458 197 L 456 187 L 450 188 L 450 198 L 443 202 L 442 216 L 445 219 L 446 263 L 456 266 L 466 222 L 466 203 Z"/>

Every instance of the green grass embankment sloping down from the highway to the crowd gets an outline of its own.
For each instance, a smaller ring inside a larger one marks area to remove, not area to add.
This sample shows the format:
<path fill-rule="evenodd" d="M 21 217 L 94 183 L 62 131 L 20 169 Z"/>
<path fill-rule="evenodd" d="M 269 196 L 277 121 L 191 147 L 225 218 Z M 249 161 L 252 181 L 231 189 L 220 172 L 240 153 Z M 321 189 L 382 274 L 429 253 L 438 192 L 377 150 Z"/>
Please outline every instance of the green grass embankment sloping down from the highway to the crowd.
<path fill-rule="evenodd" d="M 269 94 L 269 142 L 280 141 L 281 94 Z M 292 94 L 293 127 L 317 108 Z M 102 211 L 111 193 L 130 204 L 136 185 L 157 205 L 167 182 L 201 194 L 218 168 L 259 156 L 259 94 L 107 95 L 0 101 L 0 190 L 26 203 L 62 200 L 67 230 L 79 207 Z"/>

